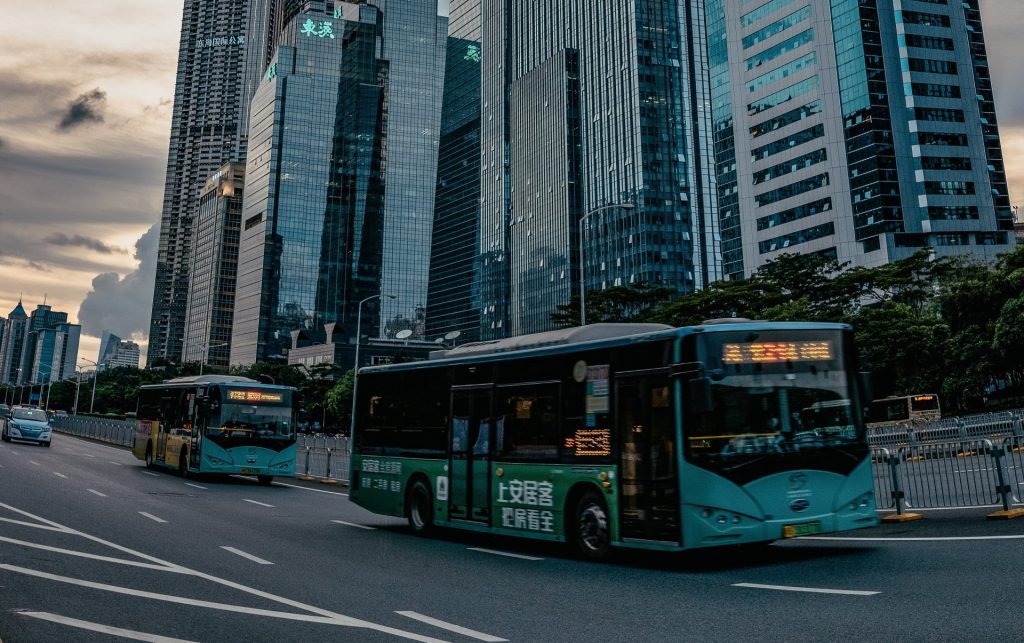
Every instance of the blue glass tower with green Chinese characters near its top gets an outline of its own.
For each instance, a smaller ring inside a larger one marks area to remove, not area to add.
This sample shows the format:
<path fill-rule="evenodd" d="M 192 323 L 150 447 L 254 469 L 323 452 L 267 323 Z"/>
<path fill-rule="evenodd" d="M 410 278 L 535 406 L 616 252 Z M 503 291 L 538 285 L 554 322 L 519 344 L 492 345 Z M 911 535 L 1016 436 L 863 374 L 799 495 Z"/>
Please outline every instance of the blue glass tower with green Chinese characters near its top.
<path fill-rule="evenodd" d="M 364 334 L 425 332 L 446 22 L 432 0 L 283 10 L 250 105 L 231 365 L 284 362 L 329 323 L 354 342 L 359 312 Z"/>

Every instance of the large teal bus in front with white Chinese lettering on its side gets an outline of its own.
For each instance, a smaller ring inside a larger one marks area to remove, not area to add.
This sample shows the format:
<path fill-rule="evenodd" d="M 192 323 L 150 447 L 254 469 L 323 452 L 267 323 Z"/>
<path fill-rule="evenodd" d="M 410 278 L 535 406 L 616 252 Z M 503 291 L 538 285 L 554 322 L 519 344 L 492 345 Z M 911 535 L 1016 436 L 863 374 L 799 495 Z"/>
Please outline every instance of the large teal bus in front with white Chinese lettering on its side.
<path fill-rule="evenodd" d="M 435 525 L 684 550 L 878 524 L 850 327 L 598 324 L 359 371 L 350 499 Z"/>

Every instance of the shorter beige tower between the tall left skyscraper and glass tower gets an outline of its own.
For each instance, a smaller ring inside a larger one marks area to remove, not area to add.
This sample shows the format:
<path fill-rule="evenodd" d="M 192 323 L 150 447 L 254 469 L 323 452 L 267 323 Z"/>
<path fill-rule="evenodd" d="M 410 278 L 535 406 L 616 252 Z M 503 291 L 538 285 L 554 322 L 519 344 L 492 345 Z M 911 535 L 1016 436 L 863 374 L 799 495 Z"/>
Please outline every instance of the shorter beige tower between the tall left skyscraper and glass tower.
<path fill-rule="evenodd" d="M 224 165 L 200 194 L 188 271 L 184 361 L 226 367 L 234 318 L 245 166 Z"/>

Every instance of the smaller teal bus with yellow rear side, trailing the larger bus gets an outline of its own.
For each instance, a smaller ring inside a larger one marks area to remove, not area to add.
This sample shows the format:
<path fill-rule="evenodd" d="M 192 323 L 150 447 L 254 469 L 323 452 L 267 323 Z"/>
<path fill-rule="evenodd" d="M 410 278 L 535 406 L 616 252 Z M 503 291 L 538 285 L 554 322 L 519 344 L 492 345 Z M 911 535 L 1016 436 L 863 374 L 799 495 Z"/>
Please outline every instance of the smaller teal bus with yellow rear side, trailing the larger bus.
<path fill-rule="evenodd" d="M 255 475 L 260 484 L 295 476 L 289 386 L 203 375 L 141 387 L 132 454 L 181 475 Z"/>

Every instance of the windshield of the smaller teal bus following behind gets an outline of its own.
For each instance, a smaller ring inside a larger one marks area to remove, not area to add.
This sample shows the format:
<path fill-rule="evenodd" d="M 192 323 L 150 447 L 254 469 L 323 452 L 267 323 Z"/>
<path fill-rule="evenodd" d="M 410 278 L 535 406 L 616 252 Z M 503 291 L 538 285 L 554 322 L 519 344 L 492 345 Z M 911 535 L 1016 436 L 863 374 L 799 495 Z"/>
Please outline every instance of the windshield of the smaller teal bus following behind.
<path fill-rule="evenodd" d="M 208 437 L 287 439 L 295 436 L 290 392 L 272 395 L 241 389 L 215 389 L 210 395 Z"/>

